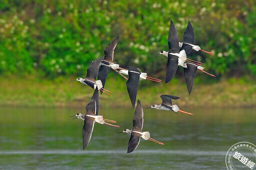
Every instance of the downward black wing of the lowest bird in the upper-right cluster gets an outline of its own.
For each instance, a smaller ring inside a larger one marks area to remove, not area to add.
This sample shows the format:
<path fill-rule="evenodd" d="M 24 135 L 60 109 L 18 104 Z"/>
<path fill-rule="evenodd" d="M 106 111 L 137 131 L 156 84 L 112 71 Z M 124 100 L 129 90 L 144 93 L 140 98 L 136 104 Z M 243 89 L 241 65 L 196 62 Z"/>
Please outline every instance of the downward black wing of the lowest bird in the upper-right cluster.
<path fill-rule="evenodd" d="M 186 88 L 190 95 L 193 83 L 194 83 L 194 76 L 197 70 L 197 65 L 192 63 L 186 63 L 187 68 L 184 68 L 184 75 L 186 80 Z"/>

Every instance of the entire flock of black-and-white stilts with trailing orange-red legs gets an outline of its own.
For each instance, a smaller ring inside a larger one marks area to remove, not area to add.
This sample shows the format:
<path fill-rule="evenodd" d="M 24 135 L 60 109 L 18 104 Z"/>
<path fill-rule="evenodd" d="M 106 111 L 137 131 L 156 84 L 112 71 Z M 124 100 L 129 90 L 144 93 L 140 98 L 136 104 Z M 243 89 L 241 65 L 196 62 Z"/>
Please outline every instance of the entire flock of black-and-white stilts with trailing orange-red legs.
<path fill-rule="evenodd" d="M 102 92 L 108 95 L 113 94 L 111 91 L 108 91 L 104 88 L 106 77 L 110 69 L 113 69 L 115 72 L 117 72 L 127 80 L 126 87 L 127 87 L 128 95 L 133 108 L 135 107 L 137 87 L 138 87 L 138 82 L 140 78 L 161 82 L 160 79 L 147 76 L 146 72 L 140 72 L 137 68 L 129 66 L 127 67 L 128 69 L 124 69 L 119 67 L 119 64 L 114 63 L 113 54 L 114 54 L 114 49 L 115 49 L 115 46 L 117 45 L 118 39 L 119 39 L 119 36 L 113 39 L 105 47 L 104 55 L 90 63 L 90 65 L 87 67 L 87 74 L 85 78 L 81 78 L 81 77 L 76 78 L 77 81 L 80 81 L 81 83 L 88 85 L 94 89 L 93 95 L 89 103 L 85 106 L 85 109 L 86 109 L 85 114 L 76 113 L 75 115 L 72 115 L 72 116 L 75 116 L 74 118 L 80 118 L 84 121 L 84 124 L 82 127 L 83 149 L 86 148 L 86 146 L 90 141 L 94 122 L 97 122 L 100 124 L 107 124 L 114 127 L 119 127 L 118 125 L 110 124 L 110 123 L 116 123 L 115 120 L 105 119 L 103 118 L 102 115 L 98 115 L 98 109 L 99 109 L 98 90 L 100 90 L 101 94 Z M 192 86 L 193 86 L 194 76 L 197 69 L 202 72 L 205 72 L 205 71 L 203 71 L 203 67 L 200 66 L 202 64 L 201 62 L 189 59 L 187 58 L 187 55 L 191 52 L 192 49 L 196 51 L 201 50 L 211 55 L 213 55 L 213 53 L 204 51 L 200 49 L 198 45 L 193 44 L 194 34 L 193 34 L 192 25 L 189 20 L 188 20 L 185 32 L 183 34 L 183 42 L 178 41 L 177 31 L 175 29 L 173 22 L 170 20 L 170 28 L 169 28 L 167 41 L 168 41 L 168 48 L 169 48 L 168 51 L 161 50 L 159 53 L 157 53 L 157 54 L 163 54 L 168 58 L 167 65 L 166 65 L 165 83 L 169 82 L 173 78 L 178 65 L 180 65 L 184 68 L 186 86 L 187 86 L 188 93 L 190 95 Z M 208 72 L 205 72 L 205 73 L 209 74 Z M 125 75 L 128 75 L 128 78 Z M 209 75 L 215 76 L 212 74 L 209 74 Z M 96 77 L 97 77 L 97 80 L 96 80 Z M 161 104 L 159 105 L 152 104 L 150 107 L 147 107 L 147 108 L 155 108 L 160 110 L 172 110 L 174 112 L 179 111 L 179 112 L 193 115 L 192 113 L 180 110 L 176 104 L 172 105 L 171 99 L 178 99 L 179 97 L 173 96 L 173 95 L 164 95 L 164 94 L 160 95 L 160 97 L 162 99 Z M 153 142 L 163 145 L 162 142 L 151 138 L 150 133 L 148 131 L 142 131 L 143 109 L 139 100 L 137 100 L 132 122 L 133 122 L 132 129 L 124 129 L 123 131 L 121 131 L 121 132 L 130 134 L 127 153 L 132 152 L 134 149 L 136 149 L 136 147 L 139 144 L 140 137 L 142 137 L 144 140 L 149 139 Z"/>

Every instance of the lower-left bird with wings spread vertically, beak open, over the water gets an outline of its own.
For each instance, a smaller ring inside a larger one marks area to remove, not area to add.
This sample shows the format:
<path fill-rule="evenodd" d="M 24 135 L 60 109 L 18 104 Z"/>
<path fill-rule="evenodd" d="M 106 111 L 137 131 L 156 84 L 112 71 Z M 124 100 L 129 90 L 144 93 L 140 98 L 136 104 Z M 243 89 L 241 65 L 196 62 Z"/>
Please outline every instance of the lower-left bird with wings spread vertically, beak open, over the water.
<path fill-rule="evenodd" d="M 71 117 L 76 116 L 74 118 L 80 118 L 84 122 L 82 127 L 82 149 L 83 150 L 86 148 L 86 146 L 90 141 L 95 121 L 100 124 L 107 124 L 114 127 L 119 127 L 118 125 L 113 125 L 105 122 L 105 121 L 116 122 L 115 120 L 108 120 L 103 118 L 102 115 L 97 115 L 98 114 L 98 90 L 97 89 L 94 90 L 89 103 L 85 106 L 85 109 L 86 109 L 85 114 L 76 113 L 75 115 L 71 116 Z"/>

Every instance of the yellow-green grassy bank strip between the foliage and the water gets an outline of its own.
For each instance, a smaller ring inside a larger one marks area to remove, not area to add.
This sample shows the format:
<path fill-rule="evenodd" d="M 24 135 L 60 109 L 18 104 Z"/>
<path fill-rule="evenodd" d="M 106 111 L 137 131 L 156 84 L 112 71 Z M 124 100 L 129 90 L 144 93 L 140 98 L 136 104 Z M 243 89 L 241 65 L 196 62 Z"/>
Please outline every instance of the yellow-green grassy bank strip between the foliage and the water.
<path fill-rule="evenodd" d="M 83 107 L 89 101 L 93 90 L 78 81 L 71 82 L 74 79 L 75 77 L 63 76 L 55 79 L 41 79 L 34 76 L 25 78 L 1 76 L 0 105 Z M 199 79 L 195 79 L 190 96 L 183 80 L 173 79 L 167 84 L 143 80 L 139 83 L 137 99 L 140 99 L 143 105 L 149 106 L 153 103 L 160 103 L 161 94 L 171 94 L 180 96 L 180 99 L 174 101 L 180 106 L 249 107 L 256 105 L 255 80 L 220 78 L 217 81 L 201 82 Z M 105 88 L 114 94 L 112 96 L 100 95 L 101 106 L 131 107 L 124 79 L 111 76 L 107 79 Z"/>

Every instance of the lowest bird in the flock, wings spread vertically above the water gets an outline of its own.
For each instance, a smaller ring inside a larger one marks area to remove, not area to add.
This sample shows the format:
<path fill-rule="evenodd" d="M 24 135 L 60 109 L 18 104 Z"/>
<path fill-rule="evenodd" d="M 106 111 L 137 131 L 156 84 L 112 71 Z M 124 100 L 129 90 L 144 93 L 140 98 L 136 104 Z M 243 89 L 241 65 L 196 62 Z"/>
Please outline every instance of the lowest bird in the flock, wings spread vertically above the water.
<path fill-rule="evenodd" d="M 142 109 L 142 106 L 141 106 L 141 103 L 139 100 L 137 100 L 137 105 L 136 105 L 135 112 L 134 112 L 134 115 L 132 118 L 132 122 L 133 122 L 132 129 L 129 130 L 126 128 L 123 131 L 121 131 L 121 132 L 130 134 L 130 139 L 128 141 L 127 153 L 130 153 L 137 148 L 139 141 L 140 141 L 140 137 L 142 137 L 144 140 L 149 139 L 155 143 L 163 145 L 162 142 L 151 138 L 150 133 L 148 131 L 142 131 L 143 109 Z M 119 133 L 121 133 L 121 132 L 119 132 Z"/>

